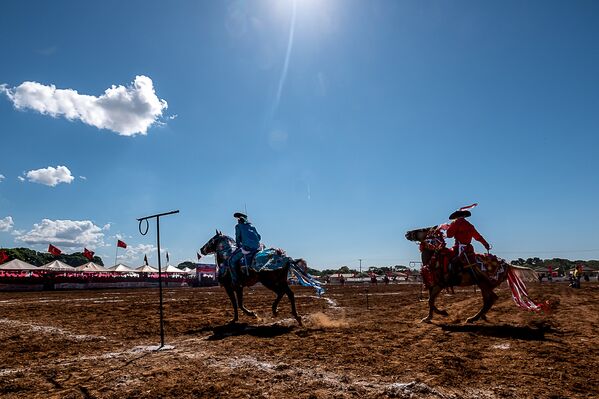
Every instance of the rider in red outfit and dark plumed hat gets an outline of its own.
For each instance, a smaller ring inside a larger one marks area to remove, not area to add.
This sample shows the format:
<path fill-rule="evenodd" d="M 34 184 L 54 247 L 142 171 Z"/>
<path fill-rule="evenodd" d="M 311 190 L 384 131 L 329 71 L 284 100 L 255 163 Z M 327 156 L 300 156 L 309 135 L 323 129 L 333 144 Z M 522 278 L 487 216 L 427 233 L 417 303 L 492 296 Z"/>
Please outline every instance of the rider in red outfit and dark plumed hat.
<path fill-rule="evenodd" d="M 473 238 L 483 244 L 487 251 L 491 248 L 483 236 L 465 219 L 471 215 L 468 210 L 459 210 L 449 216 L 449 219 L 453 222 L 447 229 L 447 237 L 455 238 L 453 259 L 451 260 L 453 265 L 461 264 L 466 266 L 475 262 L 474 247 L 471 244 Z"/>

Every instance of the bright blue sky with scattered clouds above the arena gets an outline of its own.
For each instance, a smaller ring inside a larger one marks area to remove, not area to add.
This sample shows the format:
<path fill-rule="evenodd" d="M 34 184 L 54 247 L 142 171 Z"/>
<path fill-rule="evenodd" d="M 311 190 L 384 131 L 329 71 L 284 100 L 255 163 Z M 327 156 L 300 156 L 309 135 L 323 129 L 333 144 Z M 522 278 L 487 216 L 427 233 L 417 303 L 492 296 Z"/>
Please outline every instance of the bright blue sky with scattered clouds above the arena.
<path fill-rule="evenodd" d="M 161 224 L 178 263 L 247 207 L 311 266 L 407 264 L 406 230 L 478 202 L 499 256 L 597 259 L 598 17 L 593 1 L 2 2 L 0 245 L 112 264 L 118 236 L 122 261 L 156 264 L 135 219 L 179 209 Z"/>

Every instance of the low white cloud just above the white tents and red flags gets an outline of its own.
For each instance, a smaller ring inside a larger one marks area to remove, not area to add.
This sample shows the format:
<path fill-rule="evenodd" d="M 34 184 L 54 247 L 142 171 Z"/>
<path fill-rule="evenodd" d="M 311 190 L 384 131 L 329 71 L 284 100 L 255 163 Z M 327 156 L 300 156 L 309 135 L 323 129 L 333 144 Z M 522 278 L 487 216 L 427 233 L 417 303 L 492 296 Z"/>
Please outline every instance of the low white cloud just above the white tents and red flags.
<path fill-rule="evenodd" d="M 102 229 L 89 220 L 43 219 L 16 237 L 26 244 L 52 243 L 63 247 L 100 247 L 104 245 Z"/>

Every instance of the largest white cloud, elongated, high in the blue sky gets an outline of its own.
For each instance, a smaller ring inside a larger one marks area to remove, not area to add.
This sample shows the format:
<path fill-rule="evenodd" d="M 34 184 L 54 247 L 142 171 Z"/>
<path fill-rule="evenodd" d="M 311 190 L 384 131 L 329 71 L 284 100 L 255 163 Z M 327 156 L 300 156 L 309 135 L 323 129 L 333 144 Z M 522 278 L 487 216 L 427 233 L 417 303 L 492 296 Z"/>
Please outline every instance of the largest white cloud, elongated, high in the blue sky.
<path fill-rule="evenodd" d="M 122 136 L 146 134 L 168 107 L 165 100 L 156 96 L 152 79 L 147 76 L 136 76 L 126 87 L 113 85 L 99 97 L 37 82 L 23 82 L 13 88 L 0 85 L 0 93 L 6 94 L 17 109 L 29 108 L 53 117 L 78 119 Z"/>

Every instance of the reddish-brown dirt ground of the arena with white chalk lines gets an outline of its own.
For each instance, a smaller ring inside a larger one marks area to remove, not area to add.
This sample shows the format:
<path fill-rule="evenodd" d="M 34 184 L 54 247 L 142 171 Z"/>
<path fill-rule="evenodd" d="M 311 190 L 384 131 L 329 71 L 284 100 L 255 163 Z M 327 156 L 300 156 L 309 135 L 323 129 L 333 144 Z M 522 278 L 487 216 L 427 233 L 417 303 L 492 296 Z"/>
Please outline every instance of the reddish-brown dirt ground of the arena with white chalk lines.
<path fill-rule="evenodd" d="M 420 324 L 419 285 L 246 289 L 259 319 L 226 326 L 218 287 L 0 293 L 3 398 L 597 398 L 599 284 L 530 284 L 551 314 L 519 310 L 505 286 L 487 322 L 473 288 L 442 294 L 449 317 Z"/>

